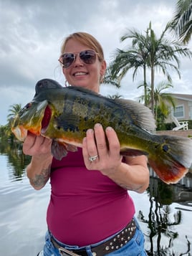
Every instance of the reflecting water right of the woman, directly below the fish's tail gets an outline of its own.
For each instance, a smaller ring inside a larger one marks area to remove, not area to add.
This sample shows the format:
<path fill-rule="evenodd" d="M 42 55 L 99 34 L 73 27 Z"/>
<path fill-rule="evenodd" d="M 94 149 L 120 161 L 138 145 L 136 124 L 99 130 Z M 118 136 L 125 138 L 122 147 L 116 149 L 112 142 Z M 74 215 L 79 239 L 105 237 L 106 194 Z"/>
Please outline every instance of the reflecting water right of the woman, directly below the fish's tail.
<path fill-rule="evenodd" d="M 148 188 L 149 212 L 143 214 L 138 211 L 140 222 L 147 224 L 148 232 L 145 233 L 145 240 L 148 243 L 148 255 L 191 255 L 191 232 L 189 219 L 185 219 L 184 211 L 191 212 L 192 191 L 191 186 L 186 187 L 186 181 L 191 184 L 191 175 L 175 185 L 167 185 L 160 181 L 152 170 L 150 186 Z M 185 207 L 173 208 L 174 203 L 182 204 Z M 174 212 L 173 212 L 174 209 Z M 181 231 L 183 220 L 186 227 Z M 188 238 L 190 236 L 190 239 Z M 182 246 L 178 247 L 178 241 Z"/>

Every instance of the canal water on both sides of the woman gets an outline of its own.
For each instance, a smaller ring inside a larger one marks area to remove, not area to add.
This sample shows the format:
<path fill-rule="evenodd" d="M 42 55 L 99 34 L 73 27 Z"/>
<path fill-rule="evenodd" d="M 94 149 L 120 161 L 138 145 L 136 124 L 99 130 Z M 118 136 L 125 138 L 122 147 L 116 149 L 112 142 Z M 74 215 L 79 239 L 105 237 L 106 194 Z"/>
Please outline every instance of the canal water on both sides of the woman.
<path fill-rule="evenodd" d="M 1 147 L 0 147 L 1 149 Z M 36 256 L 44 245 L 50 186 L 30 186 L 18 148 L 0 151 L 0 255 Z M 168 186 L 151 172 L 144 194 L 130 192 L 148 255 L 192 255 L 192 178 Z"/>

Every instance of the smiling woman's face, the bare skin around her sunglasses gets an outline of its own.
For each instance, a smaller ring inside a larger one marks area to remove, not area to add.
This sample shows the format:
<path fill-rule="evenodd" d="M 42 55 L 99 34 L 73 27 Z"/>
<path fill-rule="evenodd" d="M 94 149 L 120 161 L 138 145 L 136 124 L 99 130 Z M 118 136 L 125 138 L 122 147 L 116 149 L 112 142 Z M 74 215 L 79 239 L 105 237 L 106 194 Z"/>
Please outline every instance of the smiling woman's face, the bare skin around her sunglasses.
<path fill-rule="evenodd" d="M 80 44 L 74 39 L 69 39 L 64 52 L 79 53 L 86 49 L 90 49 L 84 44 Z M 67 69 L 63 67 L 64 76 L 69 85 L 81 86 L 99 92 L 100 77 L 105 74 L 106 62 L 100 62 L 98 56 L 92 65 L 87 65 L 80 59 L 77 54 L 75 61 Z"/>

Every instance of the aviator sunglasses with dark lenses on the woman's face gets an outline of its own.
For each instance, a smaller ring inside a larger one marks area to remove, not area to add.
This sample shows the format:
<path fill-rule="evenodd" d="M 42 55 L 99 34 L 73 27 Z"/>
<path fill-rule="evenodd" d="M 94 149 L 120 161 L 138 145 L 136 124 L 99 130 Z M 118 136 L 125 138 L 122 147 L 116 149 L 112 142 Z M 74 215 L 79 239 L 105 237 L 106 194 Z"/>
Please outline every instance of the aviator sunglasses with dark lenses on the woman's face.
<path fill-rule="evenodd" d="M 96 55 L 98 53 L 95 52 L 93 49 L 85 49 L 85 51 L 72 53 L 66 52 L 59 57 L 59 62 L 62 63 L 64 68 L 70 67 L 73 62 L 75 62 L 77 56 L 80 56 L 80 60 L 87 65 L 92 65 L 95 63 Z"/>

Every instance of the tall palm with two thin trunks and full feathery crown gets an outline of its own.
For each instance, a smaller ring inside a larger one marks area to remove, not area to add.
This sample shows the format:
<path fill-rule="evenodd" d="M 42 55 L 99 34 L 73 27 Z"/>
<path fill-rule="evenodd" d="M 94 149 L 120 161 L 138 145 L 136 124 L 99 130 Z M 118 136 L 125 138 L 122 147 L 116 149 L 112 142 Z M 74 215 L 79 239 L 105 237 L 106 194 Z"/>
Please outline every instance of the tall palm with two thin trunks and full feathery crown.
<path fill-rule="evenodd" d="M 115 52 L 115 60 L 110 64 L 110 73 L 112 78 L 122 80 L 125 77 L 128 70 L 134 69 L 133 80 L 139 68 L 143 68 L 143 84 L 145 105 L 147 103 L 147 83 L 146 83 L 146 68 L 150 68 L 150 85 L 151 85 L 151 109 L 154 114 L 154 83 L 155 83 L 155 71 L 163 72 L 169 82 L 171 82 L 171 75 L 168 72 L 168 67 L 175 70 L 180 77 L 179 67 L 180 62 L 178 56 L 191 57 L 191 51 L 188 48 L 183 48 L 181 42 L 170 41 L 165 38 L 165 33 L 168 31 L 169 25 L 167 25 L 157 38 L 155 32 L 151 27 L 151 23 L 146 31 L 145 36 L 133 31 L 128 31 L 121 41 L 125 39 L 133 39 L 132 47 L 126 51 L 117 49 Z"/>

